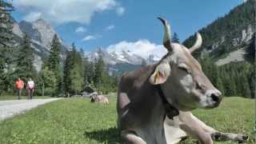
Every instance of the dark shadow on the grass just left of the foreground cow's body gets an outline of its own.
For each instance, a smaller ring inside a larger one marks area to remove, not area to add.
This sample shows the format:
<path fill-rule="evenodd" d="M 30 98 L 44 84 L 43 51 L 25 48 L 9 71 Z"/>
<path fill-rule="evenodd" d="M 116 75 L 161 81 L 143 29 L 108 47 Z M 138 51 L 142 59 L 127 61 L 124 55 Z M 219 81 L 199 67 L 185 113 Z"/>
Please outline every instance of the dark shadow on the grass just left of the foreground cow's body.
<path fill-rule="evenodd" d="M 85 131 L 84 136 L 101 143 L 120 143 L 118 129 L 116 127 L 112 127 L 107 130 L 95 130 L 90 132 Z"/>

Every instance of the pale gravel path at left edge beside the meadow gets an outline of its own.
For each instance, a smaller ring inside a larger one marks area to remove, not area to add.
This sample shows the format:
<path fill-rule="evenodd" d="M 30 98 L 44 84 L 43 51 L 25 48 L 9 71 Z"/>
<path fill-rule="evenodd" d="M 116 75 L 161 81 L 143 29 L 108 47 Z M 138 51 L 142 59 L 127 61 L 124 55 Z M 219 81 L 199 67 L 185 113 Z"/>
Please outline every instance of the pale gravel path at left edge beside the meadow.
<path fill-rule="evenodd" d="M 0 101 L 0 121 L 5 118 L 10 118 L 15 114 L 22 114 L 26 110 L 31 110 L 36 106 L 45 104 L 47 102 L 53 102 L 58 99 L 61 98 Z"/>

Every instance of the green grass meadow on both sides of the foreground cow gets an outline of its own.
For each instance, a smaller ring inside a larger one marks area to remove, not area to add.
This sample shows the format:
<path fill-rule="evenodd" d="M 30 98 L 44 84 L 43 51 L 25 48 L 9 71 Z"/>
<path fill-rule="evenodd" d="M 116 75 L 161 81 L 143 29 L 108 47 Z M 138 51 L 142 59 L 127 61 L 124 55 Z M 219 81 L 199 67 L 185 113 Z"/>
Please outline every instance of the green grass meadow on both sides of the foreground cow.
<path fill-rule="evenodd" d="M 118 143 L 115 101 L 112 97 L 106 105 L 90 103 L 87 98 L 65 98 L 38 106 L 0 122 L 0 143 Z M 254 101 L 251 99 L 224 98 L 217 109 L 194 110 L 194 114 L 217 130 L 246 133 L 252 139 Z M 190 138 L 182 143 L 194 142 Z"/>

